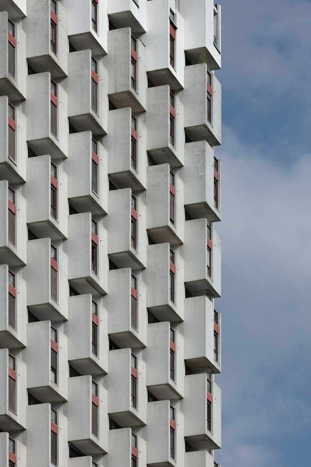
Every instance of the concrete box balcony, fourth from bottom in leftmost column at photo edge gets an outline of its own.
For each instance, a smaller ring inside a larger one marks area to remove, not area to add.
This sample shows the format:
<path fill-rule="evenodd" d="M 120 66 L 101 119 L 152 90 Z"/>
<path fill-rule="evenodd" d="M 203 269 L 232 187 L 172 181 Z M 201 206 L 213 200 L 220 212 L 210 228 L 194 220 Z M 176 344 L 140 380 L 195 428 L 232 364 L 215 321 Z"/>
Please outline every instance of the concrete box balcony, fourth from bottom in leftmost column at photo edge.
<path fill-rule="evenodd" d="M 10 268 L 26 264 L 26 199 L 0 181 L 0 263 Z"/>

